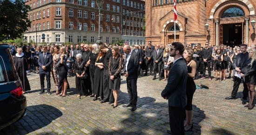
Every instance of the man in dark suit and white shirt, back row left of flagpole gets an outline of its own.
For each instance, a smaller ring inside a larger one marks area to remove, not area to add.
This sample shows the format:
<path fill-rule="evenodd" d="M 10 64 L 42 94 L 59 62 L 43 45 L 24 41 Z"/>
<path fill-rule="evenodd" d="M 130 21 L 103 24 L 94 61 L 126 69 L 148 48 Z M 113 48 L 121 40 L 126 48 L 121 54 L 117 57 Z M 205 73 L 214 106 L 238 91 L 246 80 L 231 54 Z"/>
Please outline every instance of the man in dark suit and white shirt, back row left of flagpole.
<path fill-rule="evenodd" d="M 163 50 L 159 49 L 160 45 L 157 44 L 155 46 L 155 50 L 153 51 L 153 63 L 154 63 L 154 78 L 153 80 L 156 79 L 156 70 L 158 71 L 159 74 L 159 80 L 161 80 L 161 73 L 162 73 L 162 54 Z"/>

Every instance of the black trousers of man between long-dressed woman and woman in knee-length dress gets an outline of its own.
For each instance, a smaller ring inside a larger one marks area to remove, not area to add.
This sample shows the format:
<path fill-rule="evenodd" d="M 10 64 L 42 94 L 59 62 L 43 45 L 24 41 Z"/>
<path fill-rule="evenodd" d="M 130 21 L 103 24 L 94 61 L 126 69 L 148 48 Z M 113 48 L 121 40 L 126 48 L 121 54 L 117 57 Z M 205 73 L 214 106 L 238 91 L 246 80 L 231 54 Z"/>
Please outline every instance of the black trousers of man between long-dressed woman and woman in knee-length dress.
<path fill-rule="evenodd" d="M 108 68 L 103 69 L 103 101 L 114 102 L 112 90 L 109 89 L 109 74 Z"/>

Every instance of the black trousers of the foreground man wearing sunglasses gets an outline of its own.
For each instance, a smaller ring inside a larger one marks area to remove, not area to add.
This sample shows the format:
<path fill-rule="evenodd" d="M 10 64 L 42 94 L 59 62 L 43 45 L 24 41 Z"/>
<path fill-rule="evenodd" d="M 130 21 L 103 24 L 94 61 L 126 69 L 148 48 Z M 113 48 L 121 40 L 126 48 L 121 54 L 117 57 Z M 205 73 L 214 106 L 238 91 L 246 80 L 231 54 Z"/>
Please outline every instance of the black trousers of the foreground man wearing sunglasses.
<path fill-rule="evenodd" d="M 169 122 L 172 135 L 185 135 L 182 107 L 169 106 Z"/>

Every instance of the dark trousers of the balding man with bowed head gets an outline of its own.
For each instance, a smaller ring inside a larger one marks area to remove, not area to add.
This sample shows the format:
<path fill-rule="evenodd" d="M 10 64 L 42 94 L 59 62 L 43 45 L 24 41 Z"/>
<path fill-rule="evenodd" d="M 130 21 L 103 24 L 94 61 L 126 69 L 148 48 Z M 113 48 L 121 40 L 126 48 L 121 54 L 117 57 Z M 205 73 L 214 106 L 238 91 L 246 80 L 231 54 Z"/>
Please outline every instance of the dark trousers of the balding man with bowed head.
<path fill-rule="evenodd" d="M 127 91 L 128 91 L 128 96 L 129 96 L 129 104 L 132 104 L 133 106 L 137 105 L 137 100 L 138 100 L 137 79 L 138 78 L 126 77 Z"/>

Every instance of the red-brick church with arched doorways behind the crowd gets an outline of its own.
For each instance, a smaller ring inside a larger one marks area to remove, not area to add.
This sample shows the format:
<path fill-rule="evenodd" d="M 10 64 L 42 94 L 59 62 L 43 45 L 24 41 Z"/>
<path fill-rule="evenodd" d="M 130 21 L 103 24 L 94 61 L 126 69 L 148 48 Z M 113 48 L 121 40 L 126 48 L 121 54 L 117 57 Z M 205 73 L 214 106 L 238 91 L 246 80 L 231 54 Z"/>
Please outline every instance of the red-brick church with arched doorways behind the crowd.
<path fill-rule="evenodd" d="M 256 44 L 256 0 L 146 0 L 146 43 Z M 254 27 L 253 27 L 254 25 Z"/>

